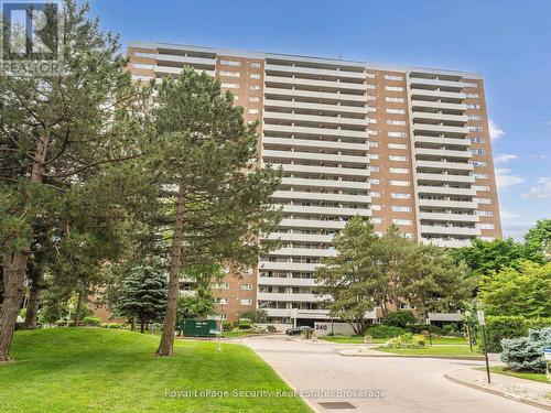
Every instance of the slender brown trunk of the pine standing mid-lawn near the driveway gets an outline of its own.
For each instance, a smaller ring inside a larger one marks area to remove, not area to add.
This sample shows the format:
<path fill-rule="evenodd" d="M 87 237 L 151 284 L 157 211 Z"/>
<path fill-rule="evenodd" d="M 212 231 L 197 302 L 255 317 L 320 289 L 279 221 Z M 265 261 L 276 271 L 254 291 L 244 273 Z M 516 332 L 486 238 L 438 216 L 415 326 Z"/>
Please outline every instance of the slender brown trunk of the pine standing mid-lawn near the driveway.
<path fill-rule="evenodd" d="M 176 330 L 176 301 L 180 290 L 180 273 L 182 271 L 182 238 L 184 232 L 185 195 L 181 186 L 176 200 L 176 221 L 171 248 L 171 268 L 169 275 L 169 294 L 166 314 L 163 323 L 161 344 L 156 350 L 158 356 L 171 356 L 174 352 L 174 333 Z"/>

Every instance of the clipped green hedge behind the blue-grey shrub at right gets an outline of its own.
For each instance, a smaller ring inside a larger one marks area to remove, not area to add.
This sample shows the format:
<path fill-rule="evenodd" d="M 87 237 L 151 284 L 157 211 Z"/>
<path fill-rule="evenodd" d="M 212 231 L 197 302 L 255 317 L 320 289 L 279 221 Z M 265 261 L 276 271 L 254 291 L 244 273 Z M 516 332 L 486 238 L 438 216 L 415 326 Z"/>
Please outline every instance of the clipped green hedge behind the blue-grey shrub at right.
<path fill-rule="evenodd" d="M 487 316 L 486 340 L 489 352 L 501 352 L 501 340 L 504 338 L 517 338 L 528 336 L 530 329 L 551 327 L 551 317 L 526 318 L 515 316 Z M 478 343 L 483 347 L 482 337 Z"/>

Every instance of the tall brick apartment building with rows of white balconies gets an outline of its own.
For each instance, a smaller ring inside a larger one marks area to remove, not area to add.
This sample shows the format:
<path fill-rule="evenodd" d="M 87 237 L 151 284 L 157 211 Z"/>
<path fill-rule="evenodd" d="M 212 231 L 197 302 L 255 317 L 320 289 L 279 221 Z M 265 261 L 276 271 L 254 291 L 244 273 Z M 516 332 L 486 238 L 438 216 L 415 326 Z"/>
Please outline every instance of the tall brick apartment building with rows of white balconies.
<path fill-rule="evenodd" d="M 418 242 L 466 246 L 501 237 L 483 80 L 478 75 L 343 59 L 131 42 L 136 80 L 184 66 L 222 81 L 260 121 L 261 164 L 283 169 L 272 200 L 281 248 L 215 285 L 235 319 L 327 319 L 313 273 L 355 216 Z M 376 317 L 376 314 L 371 314 Z"/>

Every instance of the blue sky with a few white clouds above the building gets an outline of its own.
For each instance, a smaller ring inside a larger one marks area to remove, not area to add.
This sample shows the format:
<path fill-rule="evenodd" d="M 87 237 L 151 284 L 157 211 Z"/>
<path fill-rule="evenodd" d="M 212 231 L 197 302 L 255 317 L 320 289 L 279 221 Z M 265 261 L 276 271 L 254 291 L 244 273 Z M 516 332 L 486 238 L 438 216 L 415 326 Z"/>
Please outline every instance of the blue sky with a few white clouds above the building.
<path fill-rule="evenodd" d="M 551 0 L 91 0 L 128 41 L 483 75 L 504 236 L 551 218 Z"/>

